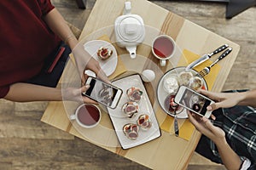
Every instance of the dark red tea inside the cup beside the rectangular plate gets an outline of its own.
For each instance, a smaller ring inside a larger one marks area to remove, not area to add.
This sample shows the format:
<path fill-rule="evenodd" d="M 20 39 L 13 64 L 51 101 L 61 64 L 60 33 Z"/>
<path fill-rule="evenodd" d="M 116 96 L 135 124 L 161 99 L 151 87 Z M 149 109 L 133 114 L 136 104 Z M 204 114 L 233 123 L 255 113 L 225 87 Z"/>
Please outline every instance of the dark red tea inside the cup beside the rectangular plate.
<path fill-rule="evenodd" d="M 100 119 L 100 112 L 94 105 L 83 105 L 78 113 L 79 122 L 90 126 L 95 124 Z"/>

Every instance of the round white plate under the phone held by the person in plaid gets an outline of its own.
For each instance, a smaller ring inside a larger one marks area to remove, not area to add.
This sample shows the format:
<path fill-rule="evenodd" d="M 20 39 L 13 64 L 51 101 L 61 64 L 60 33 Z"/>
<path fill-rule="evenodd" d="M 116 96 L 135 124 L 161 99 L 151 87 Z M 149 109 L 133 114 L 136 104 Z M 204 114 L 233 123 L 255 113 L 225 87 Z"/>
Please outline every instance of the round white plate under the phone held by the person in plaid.
<path fill-rule="evenodd" d="M 173 116 L 169 111 L 166 110 L 166 107 L 165 107 L 165 99 L 168 95 L 168 94 L 164 88 L 163 88 L 163 80 L 165 79 L 165 77 L 168 77 L 170 75 L 176 75 L 178 76 L 178 74 L 182 71 L 185 71 L 185 68 L 186 67 L 176 67 L 176 68 L 173 68 L 172 70 L 170 71 L 167 71 L 161 78 L 160 78 L 160 82 L 158 83 L 158 86 L 157 86 L 157 91 L 156 91 L 156 94 L 157 94 L 157 99 L 158 99 L 158 102 L 161 106 L 161 108 L 170 116 Z M 191 72 L 193 73 L 193 75 L 195 75 L 197 73 L 197 71 L 195 70 L 191 70 Z M 204 78 L 203 79 L 203 82 L 204 82 L 204 85 L 203 85 L 203 88 L 205 89 L 208 89 L 207 88 L 207 82 L 205 81 Z M 188 115 L 187 115 L 187 111 L 186 109 L 184 109 L 183 111 L 181 111 L 181 113 L 177 114 L 177 118 L 188 118 Z"/>

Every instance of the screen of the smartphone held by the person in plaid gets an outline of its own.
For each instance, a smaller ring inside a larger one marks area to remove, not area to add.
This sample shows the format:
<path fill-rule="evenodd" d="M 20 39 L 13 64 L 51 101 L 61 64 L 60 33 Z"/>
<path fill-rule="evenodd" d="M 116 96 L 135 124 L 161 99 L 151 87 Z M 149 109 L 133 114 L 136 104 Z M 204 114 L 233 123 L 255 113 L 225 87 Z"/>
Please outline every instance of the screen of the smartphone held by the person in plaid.
<path fill-rule="evenodd" d="M 195 111 L 201 116 L 205 116 L 207 113 L 207 106 L 211 104 L 211 100 L 204 98 L 200 94 L 195 94 L 189 88 L 185 88 L 180 103 L 190 110 Z"/>

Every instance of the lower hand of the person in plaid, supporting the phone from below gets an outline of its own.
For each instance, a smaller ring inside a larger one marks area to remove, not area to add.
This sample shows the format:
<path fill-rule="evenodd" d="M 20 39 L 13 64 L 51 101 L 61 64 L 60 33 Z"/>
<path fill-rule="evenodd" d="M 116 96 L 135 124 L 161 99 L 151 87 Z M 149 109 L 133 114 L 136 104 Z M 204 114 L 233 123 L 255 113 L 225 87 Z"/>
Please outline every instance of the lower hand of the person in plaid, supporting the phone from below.
<path fill-rule="evenodd" d="M 209 139 L 216 144 L 218 142 L 223 142 L 225 140 L 225 133 L 224 131 L 212 125 L 209 119 L 205 116 L 198 116 L 195 113 L 188 113 L 189 121 L 195 126 L 195 128 L 206 135 Z"/>

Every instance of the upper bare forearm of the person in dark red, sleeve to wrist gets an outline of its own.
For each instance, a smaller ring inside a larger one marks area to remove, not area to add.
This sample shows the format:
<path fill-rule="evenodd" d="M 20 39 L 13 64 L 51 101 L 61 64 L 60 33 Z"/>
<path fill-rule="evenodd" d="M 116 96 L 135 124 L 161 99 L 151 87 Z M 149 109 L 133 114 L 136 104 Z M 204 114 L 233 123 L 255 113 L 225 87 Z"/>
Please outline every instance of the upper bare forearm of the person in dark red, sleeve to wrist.
<path fill-rule="evenodd" d="M 62 41 L 66 42 L 71 49 L 75 48 L 78 44 L 78 40 L 73 35 L 69 26 L 67 26 L 66 20 L 63 19 L 56 8 L 52 9 L 49 14 L 46 14 L 44 16 L 44 20 L 49 28 L 54 31 Z"/>

